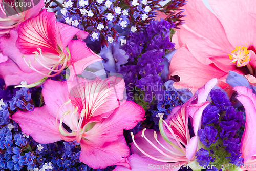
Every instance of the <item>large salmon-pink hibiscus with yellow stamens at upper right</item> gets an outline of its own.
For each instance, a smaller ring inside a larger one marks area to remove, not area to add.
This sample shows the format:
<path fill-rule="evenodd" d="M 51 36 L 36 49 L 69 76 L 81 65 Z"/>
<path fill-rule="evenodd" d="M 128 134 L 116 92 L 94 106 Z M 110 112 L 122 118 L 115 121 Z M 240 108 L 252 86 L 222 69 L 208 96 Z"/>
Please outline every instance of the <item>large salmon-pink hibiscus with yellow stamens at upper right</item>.
<path fill-rule="evenodd" d="M 185 24 L 175 33 L 178 49 L 170 62 L 170 75 L 178 75 L 177 88 L 195 92 L 212 78 L 222 79 L 228 71 L 255 75 L 255 10 L 253 0 L 188 1 Z"/>

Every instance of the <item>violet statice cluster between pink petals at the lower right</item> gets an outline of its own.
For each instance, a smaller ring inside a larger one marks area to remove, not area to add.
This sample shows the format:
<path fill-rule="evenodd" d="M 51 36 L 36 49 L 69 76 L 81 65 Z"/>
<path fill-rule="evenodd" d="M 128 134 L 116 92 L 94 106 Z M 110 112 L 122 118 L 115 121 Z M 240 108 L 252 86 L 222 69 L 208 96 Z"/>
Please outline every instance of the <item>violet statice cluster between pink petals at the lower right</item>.
<path fill-rule="evenodd" d="M 207 166 L 210 162 L 212 165 L 242 165 L 238 130 L 244 125 L 243 112 L 231 106 L 229 98 L 221 89 L 211 90 L 210 99 L 212 103 L 204 109 L 203 127 L 198 131 L 205 147 L 197 152 L 196 159 L 201 166 Z"/>

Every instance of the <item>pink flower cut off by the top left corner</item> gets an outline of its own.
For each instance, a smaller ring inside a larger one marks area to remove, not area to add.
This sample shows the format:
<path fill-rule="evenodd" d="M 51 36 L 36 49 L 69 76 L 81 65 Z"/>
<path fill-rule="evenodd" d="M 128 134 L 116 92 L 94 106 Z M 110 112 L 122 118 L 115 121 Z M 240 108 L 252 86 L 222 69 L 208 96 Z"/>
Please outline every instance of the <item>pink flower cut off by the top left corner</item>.
<path fill-rule="evenodd" d="M 44 7 L 44 1 L 40 0 L 37 5 L 21 12 L 16 15 L 6 16 L 6 12 L 3 7 L 3 1 L 0 1 L 0 36 L 5 33 L 9 33 L 12 28 L 17 27 L 21 22 L 24 22 L 28 18 L 35 17 L 40 12 L 40 9 Z"/>

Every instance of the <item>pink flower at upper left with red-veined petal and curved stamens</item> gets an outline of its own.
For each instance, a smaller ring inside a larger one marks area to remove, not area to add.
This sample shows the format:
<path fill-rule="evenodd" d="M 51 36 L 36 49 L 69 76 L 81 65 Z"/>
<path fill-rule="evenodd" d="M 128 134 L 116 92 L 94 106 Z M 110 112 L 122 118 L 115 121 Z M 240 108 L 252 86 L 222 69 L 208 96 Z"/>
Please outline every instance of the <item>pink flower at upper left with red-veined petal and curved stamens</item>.
<path fill-rule="evenodd" d="M 56 22 L 54 13 L 42 10 L 35 18 L 21 23 L 17 30 L 12 29 L 10 37 L 0 38 L 0 48 L 10 58 L 0 63 L 0 77 L 7 86 L 27 81 L 32 84 L 27 87 L 34 87 L 68 66 L 80 74 L 101 57 L 83 41 L 72 40 L 74 35 L 85 39 L 88 33 Z"/>

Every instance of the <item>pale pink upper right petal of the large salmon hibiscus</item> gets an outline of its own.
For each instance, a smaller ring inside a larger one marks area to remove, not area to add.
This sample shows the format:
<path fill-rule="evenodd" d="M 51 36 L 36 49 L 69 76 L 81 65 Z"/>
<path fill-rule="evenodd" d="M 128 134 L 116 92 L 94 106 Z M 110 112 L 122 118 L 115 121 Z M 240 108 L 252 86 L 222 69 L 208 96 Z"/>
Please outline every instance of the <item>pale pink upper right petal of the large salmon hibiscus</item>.
<path fill-rule="evenodd" d="M 254 45 L 255 47 L 255 1 L 245 0 L 237 2 L 209 0 L 209 4 L 219 18 L 226 32 L 227 39 L 233 47 L 246 45 L 247 47 L 250 45 Z M 234 20 L 234 18 L 236 18 L 236 20 Z M 212 28 L 212 30 L 214 29 L 216 29 L 216 27 Z"/>

